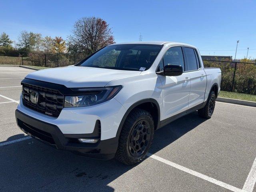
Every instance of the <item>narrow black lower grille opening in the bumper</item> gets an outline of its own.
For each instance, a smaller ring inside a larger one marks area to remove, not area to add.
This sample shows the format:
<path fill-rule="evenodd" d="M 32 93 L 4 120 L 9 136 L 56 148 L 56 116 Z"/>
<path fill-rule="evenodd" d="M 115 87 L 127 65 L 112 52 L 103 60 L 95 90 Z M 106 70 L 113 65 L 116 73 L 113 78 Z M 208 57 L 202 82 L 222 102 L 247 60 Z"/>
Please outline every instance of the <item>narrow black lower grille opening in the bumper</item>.
<path fill-rule="evenodd" d="M 28 135 L 34 136 L 42 141 L 46 141 L 52 145 L 55 145 L 54 139 L 52 138 L 52 135 L 50 133 L 35 128 L 29 124 L 26 124 L 19 119 L 17 119 L 17 122 L 20 128 Z"/>

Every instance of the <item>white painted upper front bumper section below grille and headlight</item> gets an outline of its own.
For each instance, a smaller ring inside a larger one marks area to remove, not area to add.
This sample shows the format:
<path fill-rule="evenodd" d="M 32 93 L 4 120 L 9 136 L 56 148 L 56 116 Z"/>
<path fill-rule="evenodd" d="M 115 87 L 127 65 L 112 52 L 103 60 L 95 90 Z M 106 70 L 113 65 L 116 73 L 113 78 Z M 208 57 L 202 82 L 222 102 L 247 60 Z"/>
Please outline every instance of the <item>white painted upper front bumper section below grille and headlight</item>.
<path fill-rule="evenodd" d="M 17 109 L 32 118 L 57 126 L 63 134 L 91 134 L 94 131 L 95 122 L 100 120 L 101 140 L 116 137 L 120 122 L 126 112 L 126 109 L 115 98 L 88 107 L 63 108 L 58 118 L 27 108 L 22 103 L 22 96 L 20 96 Z"/>

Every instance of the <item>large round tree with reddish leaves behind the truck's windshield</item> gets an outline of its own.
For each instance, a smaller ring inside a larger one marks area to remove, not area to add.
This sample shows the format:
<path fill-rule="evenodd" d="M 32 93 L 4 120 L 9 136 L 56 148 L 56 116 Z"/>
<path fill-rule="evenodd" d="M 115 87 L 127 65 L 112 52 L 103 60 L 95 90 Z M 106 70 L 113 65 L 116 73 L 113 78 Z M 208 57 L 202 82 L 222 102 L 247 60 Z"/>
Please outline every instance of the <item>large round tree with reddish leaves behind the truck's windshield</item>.
<path fill-rule="evenodd" d="M 83 17 L 75 22 L 72 34 L 68 37 L 68 52 L 92 54 L 114 43 L 112 30 L 106 21 L 96 17 Z"/>

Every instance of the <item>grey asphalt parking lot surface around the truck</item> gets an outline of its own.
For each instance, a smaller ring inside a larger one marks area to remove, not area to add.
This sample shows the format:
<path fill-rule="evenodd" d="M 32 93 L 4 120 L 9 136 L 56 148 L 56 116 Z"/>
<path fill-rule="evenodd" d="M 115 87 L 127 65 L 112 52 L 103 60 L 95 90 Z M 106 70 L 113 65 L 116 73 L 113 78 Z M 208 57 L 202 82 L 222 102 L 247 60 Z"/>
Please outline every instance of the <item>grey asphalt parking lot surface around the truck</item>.
<path fill-rule="evenodd" d="M 157 130 L 146 160 L 126 166 L 46 146 L 16 125 L 21 80 L 0 66 L 0 191 L 256 192 L 256 108 L 216 102 Z"/>

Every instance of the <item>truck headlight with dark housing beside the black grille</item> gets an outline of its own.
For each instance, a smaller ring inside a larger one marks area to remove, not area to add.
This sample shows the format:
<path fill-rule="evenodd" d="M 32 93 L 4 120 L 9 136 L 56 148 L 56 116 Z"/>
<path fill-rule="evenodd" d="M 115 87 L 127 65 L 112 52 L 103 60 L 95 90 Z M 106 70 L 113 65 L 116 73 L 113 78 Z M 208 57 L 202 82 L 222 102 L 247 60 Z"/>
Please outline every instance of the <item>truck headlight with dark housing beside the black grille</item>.
<path fill-rule="evenodd" d="M 121 85 L 102 88 L 77 88 L 82 94 L 65 96 L 64 107 L 84 107 L 96 105 L 112 99 L 120 90 Z"/>

